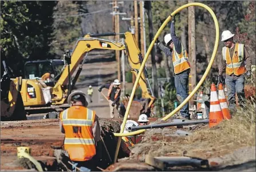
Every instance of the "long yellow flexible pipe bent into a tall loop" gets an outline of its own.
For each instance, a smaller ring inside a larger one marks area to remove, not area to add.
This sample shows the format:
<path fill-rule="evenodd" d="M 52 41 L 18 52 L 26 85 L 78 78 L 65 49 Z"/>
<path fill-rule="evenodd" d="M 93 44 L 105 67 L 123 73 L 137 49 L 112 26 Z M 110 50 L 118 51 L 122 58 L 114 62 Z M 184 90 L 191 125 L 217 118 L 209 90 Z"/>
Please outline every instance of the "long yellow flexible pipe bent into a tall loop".
<path fill-rule="evenodd" d="M 163 121 L 166 121 L 166 119 L 170 118 L 172 115 L 174 115 L 178 110 L 180 110 L 188 101 L 189 99 L 196 93 L 196 91 L 199 89 L 199 87 L 202 85 L 202 83 L 204 82 L 205 78 L 207 77 L 210 69 L 211 69 L 211 66 L 212 66 L 212 63 L 214 62 L 214 58 L 215 58 L 215 55 L 216 55 L 216 51 L 218 49 L 218 41 L 219 41 L 219 25 L 218 25 L 218 21 L 217 21 L 217 18 L 216 18 L 216 15 L 214 14 L 214 12 L 211 10 L 210 7 L 208 7 L 207 5 L 204 5 L 203 3 L 197 3 L 197 2 L 193 2 L 193 3 L 187 3 L 186 5 L 183 5 L 181 7 L 179 7 L 178 9 L 176 9 L 173 13 L 171 13 L 171 15 L 166 19 L 166 21 L 164 21 L 164 23 L 162 24 L 162 26 L 159 28 L 159 30 L 157 31 L 155 37 L 153 38 L 153 41 L 151 42 L 151 44 L 149 45 L 148 47 L 148 51 L 143 59 L 143 62 L 141 63 L 141 66 L 140 66 L 140 70 L 139 70 L 139 73 L 137 75 L 137 78 L 136 78 L 136 81 L 133 85 L 133 89 L 132 89 L 132 93 L 131 93 L 131 96 L 130 96 L 130 99 L 129 99 L 129 102 L 128 102 L 128 106 L 127 106 L 127 110 L 125 111 L 125 115 L 124 115 L 124 120 L 123 120 L 123 123 L 126 123 L 127 121 L 127 117 L 128 117 L 128 114 L 129 114 L 129 110 L 130 110 L 130 107 L 132 105 L 132 99 L 134 97 L 134 94 L 135 94 L 135 90 L 136 90 L 136 87 L 137 87 L 137 84 L 139 82 L 139 79 L 140 79 L 140 75 L 143 71 L 143 68 L 145 66 L 145 62 L 147 61 L 148 59 L 148 55 L 149 53 L 151 52 L 152 48 L 153 48 L 153 45 L 154 43 L 156 42 L 156 39 L 157 37 L 159 37 L 160 33 L 163 31 L 164 27 L 167 25 L 167 23 L 169 21 L 171 21 L 171 18 L 172 16 L 174 16 L 175 14 L 179 13 L 179 11 L 181 11 L 182 9 L 185 9 L 187 7 L 190 7 L 190 6 L 200 6 L 200 7 L 203 7 L 204 9 L 208 10 L 208 12 L 211 14 L 212 18 L 214 19 L 214 24 L 215 24 L 215 45 L 214 45 L 214 50 L 212 52 L 212 55 L 211 55 L 211 59 L 210 59 L 210 62 L 209 62 L 209 65 L 207 66 L 207 69 L 206 71 L 204 72 L 203 74 L 203 77 L 200 79 L 200 81 L 198 82 L 198 85 L 196 85 L 195 89 L 190 93 L 190 95 L 188 95 L 188 97 L 175 109 L 173 110 L 170 114 L 168 114 L 166 117 L 162 118 Z M 117 147 L 116 147 L 116 153 L 115 153 L 115 162 L 117 161 L 117 155 L 119 153 L 119 148 L 120 148 L 120 144 L 121 144 L 121 137 L 124 137 L 124 136 L 129 136 L 129 135 L 136 135 L 136 134 L 140 134 L 140 133 L 143 133 L 145 131 L 145 129 L 143 130 L 137 130 L 137 131 L 133 131 L 131 133 L 123 133 L 124 132 L 124 126 L 121 126 L 121 130 L 120 130 L 120 133 L 114 133 L 114 135 L 116 137 L 119 137 L 118 138 L 118 141 L 117 141 Z"/>

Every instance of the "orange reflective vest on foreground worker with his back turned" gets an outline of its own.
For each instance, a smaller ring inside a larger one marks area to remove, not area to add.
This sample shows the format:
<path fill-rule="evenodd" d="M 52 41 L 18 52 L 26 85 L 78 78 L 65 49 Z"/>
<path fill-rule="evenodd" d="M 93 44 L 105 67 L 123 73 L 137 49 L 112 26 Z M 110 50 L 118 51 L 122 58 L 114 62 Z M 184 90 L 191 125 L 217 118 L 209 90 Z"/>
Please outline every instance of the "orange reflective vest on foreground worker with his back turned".
<path fill-rule="evenodd" d="M 60 120 L 65 130 L 64 149 L 72 161 L 88 161 L 96 154 L 92 128 L 95 111 L 72 106 L 62 111 Z"/>

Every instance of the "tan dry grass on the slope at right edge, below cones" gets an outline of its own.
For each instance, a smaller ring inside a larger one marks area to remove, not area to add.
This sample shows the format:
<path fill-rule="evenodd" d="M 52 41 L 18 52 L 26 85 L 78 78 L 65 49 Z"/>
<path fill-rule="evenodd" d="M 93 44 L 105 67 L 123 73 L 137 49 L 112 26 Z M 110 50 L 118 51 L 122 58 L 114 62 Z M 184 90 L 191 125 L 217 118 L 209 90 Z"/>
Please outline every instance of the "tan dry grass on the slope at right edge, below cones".
<path fill-rule="evenodd" d="M 207 141 L 210 145 L 255 146 L 255 101 L 247 100 L 245 108 L 238 109 L 229 121 L 223 121 L 212 129 L 202 130 L 187 138 L 187 143 Z"/>

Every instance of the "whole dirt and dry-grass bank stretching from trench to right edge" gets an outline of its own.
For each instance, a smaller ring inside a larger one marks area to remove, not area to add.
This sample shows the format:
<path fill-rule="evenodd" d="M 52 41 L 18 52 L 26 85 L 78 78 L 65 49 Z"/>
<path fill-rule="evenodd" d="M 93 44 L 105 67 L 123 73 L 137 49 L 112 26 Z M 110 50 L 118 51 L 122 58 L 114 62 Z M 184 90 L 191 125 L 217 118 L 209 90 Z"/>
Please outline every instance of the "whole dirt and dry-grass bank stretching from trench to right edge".
<path fill-rule="evenodd" d="M 195 131 L 188 137 L 167 137 L 174 129 L 163 129 L 162 132 L 160 129 L 148 130 L 143 142 L 135 146 L 133 157 L 140 157 L 143 161 L 145 154 L 180 156 L 186 151 L 191 157 L 212 158 L 242 147 L 255 146 L 255 107 L 255 101 L 247 101 L 246 107 L 239 109 L 229 121 L 222 121 L 211 129 Z M 162 140 L 152 139 L 155 137 Z"/>

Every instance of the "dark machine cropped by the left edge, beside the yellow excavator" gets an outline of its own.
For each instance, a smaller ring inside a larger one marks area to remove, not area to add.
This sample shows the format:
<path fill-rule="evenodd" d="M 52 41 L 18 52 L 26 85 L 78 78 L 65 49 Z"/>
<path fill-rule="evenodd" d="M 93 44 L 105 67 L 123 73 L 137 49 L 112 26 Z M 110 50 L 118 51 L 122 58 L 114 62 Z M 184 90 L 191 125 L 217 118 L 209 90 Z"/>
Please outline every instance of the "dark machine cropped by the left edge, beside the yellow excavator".
<path fill-rule="evenodd" d="M 1 59 L 1 121 L 26 120 L 21 98 L 22 77 L 11 79 L 9 68 Z"/>

